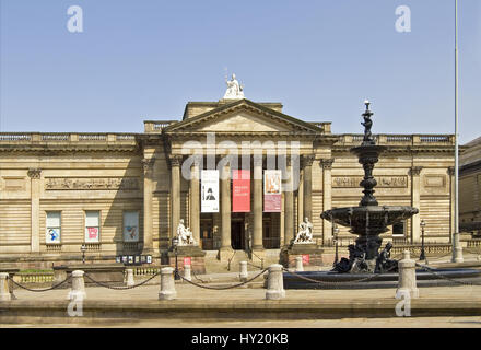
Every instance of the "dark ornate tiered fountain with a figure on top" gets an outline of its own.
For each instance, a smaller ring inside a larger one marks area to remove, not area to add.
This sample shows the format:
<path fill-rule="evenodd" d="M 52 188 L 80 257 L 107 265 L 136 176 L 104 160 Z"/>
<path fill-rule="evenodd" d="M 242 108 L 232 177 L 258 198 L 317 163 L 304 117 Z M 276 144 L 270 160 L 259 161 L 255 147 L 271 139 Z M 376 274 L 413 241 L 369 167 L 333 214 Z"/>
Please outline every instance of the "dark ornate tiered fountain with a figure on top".
<path fill-rule="evenodd" d="M 360 183 L 360 186 L 364 188 L 364 196 L 359 207 L 335 208 L 320 214 L 321 219 L 351 228 L 350 232 L 359 235 L 355 245 L 349 246 L 349 259 L 342 258 L 335 266 L 333 270 L 338 272 L 383 272 L 396 269 L 397 261 L 389 260 L 390 244 L 379 254 L 383 241 L 379 234 L 387 232 L 389 225 L 409 219 L 419 212 L 413 207 L 379 206 L 374 197 L 374 187 L 377 182 L 373 176 L 373 170 L 386 147 L 377 145 L 374 140 L 371 132 L 373 113 L 369 110 L 368 101 L 365 101 L 365 105 L 366 110 L 362 115 L 364 122 L 361 122 L 365 128 L 364 139 L 360 147 L 351 149 L 364 168 L 364 178 Z"/>

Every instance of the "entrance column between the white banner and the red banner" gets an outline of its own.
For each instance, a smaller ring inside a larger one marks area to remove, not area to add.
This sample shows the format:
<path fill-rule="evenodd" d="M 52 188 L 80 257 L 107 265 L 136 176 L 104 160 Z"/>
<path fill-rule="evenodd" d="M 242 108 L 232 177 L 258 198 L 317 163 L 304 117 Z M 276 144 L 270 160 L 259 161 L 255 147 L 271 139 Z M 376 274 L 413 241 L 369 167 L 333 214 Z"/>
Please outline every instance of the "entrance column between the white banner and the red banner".
<path fill-rule="evenodd" d="M 231 164 L 221 168 L 221 249 L 219 259 L 226 260 L 232 255 L 231 244 Z"/>

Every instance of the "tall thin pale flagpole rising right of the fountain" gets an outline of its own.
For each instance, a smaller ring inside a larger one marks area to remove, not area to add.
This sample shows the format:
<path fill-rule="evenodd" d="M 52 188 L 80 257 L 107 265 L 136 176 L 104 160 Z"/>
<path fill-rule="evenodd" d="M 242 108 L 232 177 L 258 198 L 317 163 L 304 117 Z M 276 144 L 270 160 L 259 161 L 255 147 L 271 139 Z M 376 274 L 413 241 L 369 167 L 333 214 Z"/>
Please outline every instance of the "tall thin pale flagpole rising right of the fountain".
<path fill-rule="evenodd" d="M 462 262 L 459 240 L 459 62 L 458 62 L 458 0 L 455 0 L 455 232 L 453 236 L 453 262 Z"/>

